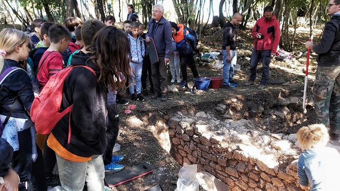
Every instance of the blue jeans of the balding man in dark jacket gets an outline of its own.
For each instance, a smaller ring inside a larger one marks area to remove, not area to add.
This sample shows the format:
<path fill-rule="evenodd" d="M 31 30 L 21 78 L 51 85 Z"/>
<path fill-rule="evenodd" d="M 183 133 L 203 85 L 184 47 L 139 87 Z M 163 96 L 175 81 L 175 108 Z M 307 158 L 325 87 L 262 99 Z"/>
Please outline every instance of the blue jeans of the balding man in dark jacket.
<path fill-rule="evenodd" d="M 227 62 L 227 51 L 222 50 L 223 55 L 223 69 L 222 69 L 222 77 L 223 77 L 223 85 L 229 85 L 231 81 L 233 81 L 234 77 L 234 65 L 236 64 L 237 55 L 236 51 L 230 50 L 231 61 Z"/>

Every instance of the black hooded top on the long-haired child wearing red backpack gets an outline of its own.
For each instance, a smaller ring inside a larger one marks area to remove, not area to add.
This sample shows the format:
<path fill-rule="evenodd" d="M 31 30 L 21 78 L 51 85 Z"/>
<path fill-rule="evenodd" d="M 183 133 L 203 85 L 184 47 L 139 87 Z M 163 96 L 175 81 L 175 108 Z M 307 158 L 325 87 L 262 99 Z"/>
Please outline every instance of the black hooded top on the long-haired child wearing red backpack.
<path fill-rule="evenodd" d="M 87 54 L 79 51 L 72 56 L 71 64 L 87 65 L 96 72 L 96 76 L 87 68 L 77 67 L 69 73 L 63 86 L 61 109 L 74 104 L 71 112 L 70 143 L 67 144 L 69 114 L 61 118 L 52 130 L 63 148 L 81 157 L 103 154 L 107 146 L 107 88 L 102 80 L 97 82 L 100 69 L 88 59 Z"/>

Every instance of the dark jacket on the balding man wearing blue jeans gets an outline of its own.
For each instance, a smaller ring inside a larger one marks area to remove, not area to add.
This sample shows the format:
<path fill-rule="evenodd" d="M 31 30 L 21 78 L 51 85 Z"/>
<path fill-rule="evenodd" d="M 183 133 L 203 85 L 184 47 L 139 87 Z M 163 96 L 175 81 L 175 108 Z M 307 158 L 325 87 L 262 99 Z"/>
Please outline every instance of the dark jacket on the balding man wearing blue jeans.
<path fill-rule="evenodd" d="M 237 46 L 237 30 L 229 21 L 223 27 L 222 34 L 222 50 L 226 50 L 226 46 L 230 46 L 231 50 L 235 50 Z"/>

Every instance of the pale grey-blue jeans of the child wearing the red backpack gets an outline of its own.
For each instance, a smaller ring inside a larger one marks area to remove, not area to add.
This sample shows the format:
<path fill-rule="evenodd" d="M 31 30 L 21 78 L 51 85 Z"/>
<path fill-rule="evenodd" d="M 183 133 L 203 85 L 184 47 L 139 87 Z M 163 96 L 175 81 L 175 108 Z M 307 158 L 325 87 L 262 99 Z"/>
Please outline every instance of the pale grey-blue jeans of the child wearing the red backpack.
<path fill-rule="evenodd" d="M 61 188 L 63 191 L 82 191 L 85 180 L 88 191 L 104 190 L 104 163 L 102 155 L 93 155 L 87 162 L 74 162 L 56 153 Z"/>

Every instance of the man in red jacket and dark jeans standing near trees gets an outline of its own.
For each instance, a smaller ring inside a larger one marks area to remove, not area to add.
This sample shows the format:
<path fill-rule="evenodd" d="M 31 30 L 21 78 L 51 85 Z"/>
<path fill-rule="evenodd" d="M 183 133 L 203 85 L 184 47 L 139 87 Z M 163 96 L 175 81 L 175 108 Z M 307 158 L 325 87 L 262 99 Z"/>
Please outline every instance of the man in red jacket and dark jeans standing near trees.
<path fill-rule="evenodd" d="M 273 14 L 273 7 L 267 6 L 263 10 L 263 17 L 258 19 L 253 28 L 254 47 L 250 59 L 250 77 L 246 86 L 253 85 L 256 79 L 256 68 L 262 59 L 262 78 L 258 89 L 263 89 L 269 79 L 269 63 L 275 56 L 280 42 L 280 23 Z"/>

